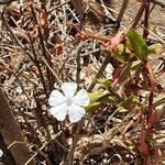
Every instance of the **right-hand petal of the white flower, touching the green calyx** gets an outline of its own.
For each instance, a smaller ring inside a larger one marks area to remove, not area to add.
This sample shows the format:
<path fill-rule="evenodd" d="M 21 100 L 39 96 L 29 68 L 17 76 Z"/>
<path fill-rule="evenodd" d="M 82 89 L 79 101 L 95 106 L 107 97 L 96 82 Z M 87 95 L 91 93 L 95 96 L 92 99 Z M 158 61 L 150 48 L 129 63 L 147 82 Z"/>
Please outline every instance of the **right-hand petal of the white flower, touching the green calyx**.
<path fill-rule="evenodd" d="M 88 106 L 89 105 L 89 97 L 85 89 L 80 89 L 77 95 L 73 98 L 73 103 L 77 106 Z"/>

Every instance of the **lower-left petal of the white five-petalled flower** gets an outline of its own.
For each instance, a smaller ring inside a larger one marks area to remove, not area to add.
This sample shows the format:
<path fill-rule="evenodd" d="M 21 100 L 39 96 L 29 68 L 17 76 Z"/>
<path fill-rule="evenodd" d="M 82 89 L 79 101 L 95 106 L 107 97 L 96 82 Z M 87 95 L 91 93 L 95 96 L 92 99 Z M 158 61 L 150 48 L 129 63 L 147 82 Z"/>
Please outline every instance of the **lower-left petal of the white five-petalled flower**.
<path fill-rule="evenodd" d="M 58 121 L 64 121 L 67 114 L 68 107 L 66 103 L 52 107 L 51 114 L 55 117 Z"/>

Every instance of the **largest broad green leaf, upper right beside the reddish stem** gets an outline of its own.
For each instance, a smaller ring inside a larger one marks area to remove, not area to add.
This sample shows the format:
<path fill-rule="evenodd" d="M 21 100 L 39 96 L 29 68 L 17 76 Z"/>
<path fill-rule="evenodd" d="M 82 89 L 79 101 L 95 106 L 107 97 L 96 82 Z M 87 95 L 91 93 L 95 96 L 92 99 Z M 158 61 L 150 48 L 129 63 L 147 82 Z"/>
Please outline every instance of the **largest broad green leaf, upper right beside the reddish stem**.
<path fill-rule="evenodd" d="M 128 37 L 136 57 L 141 61 L 146 61 L 150 52 L 145 40 L 133 30 L 128 33 Z"/>

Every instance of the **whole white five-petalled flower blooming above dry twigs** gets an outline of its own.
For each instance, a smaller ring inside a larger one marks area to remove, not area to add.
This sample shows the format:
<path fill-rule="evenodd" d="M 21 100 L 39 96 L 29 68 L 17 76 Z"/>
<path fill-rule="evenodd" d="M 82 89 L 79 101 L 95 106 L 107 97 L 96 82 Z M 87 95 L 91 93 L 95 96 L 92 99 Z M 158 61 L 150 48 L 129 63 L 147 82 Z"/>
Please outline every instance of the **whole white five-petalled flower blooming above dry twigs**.
<path fill-rule="evenodd" d="M 84 107 L 89 105 L 89 97 L 85 89 L 80 89 L 76 95 L 77 85 L 75 82 L 64 82 L 63 94 L 53 90 L 48 103 L 52 106 L 51 114 L 58 121 L 64 121 L 68 114 L 70 122 L 79 121 L 86 113 Z"/>

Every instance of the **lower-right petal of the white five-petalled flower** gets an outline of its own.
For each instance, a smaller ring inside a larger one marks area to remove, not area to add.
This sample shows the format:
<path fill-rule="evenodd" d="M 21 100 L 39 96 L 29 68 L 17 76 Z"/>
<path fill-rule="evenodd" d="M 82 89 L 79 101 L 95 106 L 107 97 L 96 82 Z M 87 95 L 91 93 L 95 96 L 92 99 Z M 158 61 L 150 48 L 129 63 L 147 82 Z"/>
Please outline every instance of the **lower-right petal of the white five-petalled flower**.
<path fill-rule="evenodd" d="M 82 107 L 72 105 L 68 107 L 69 120 L 72 123 L 79 121 L 85 114 L 86 111 Z"/>

